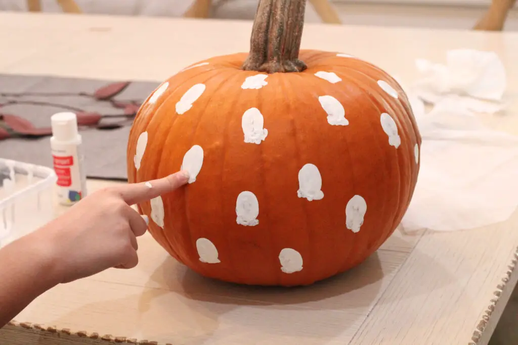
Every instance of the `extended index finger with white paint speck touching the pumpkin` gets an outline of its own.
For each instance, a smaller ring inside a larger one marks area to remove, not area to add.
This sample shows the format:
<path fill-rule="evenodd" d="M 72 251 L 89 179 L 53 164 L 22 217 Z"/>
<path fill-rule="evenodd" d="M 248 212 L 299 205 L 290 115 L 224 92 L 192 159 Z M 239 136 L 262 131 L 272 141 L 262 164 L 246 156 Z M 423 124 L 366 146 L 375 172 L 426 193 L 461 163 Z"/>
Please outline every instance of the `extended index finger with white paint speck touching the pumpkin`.
<path fill-rule="evenodd" d="M 117 192 L 128 205 L 133 205 L 173 191 L 183 186 L 188 181 L 189 172 L 178 171 L 163 178 L 117 187 Z"/>

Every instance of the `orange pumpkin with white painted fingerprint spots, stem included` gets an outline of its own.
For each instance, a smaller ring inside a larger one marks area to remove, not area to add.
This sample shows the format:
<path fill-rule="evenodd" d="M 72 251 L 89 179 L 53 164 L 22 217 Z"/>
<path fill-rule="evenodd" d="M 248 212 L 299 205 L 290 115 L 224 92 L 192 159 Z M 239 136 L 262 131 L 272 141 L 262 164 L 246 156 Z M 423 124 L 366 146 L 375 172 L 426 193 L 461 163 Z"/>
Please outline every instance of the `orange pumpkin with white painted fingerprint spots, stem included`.
<path fill-rule="evenodd" d="M 421 137 L 404 91 L 353 56 L 299 52 L 304 6 L 261 0 L 249 54 L 179 71 L 135 118 L 130 183 L 191 172 L 139 210 L 204 276 L 281 286 L 333 276 L 375 252 L 410 203 Z"/>

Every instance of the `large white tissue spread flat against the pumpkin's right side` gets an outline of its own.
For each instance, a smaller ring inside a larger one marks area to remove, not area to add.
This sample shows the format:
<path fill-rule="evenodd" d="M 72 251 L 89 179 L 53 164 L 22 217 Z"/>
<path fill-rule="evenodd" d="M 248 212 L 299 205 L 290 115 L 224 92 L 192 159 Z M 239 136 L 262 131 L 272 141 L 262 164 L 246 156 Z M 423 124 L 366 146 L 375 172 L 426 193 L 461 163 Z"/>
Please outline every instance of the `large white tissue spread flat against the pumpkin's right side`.
<path fill-rule="evenodd" d="M 465 230 L 508 219 L 518 206 L 518 137 L 487 128 L 452 98 L 414 115 L 421 166 L 402 230 Z"/>

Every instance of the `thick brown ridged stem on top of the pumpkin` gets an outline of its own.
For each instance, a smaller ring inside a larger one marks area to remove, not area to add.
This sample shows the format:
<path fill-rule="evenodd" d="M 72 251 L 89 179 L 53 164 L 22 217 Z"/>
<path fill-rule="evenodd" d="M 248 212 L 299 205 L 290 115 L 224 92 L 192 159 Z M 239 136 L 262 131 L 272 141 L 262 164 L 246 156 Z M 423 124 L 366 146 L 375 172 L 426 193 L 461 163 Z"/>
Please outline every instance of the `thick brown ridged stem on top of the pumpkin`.
<path fill-rule="evenodd" d="M 300 72 L 298 59 L 306 0 L 259 0 L 250 38 L 250 53 L 242 65 L 247 71 Z"/>

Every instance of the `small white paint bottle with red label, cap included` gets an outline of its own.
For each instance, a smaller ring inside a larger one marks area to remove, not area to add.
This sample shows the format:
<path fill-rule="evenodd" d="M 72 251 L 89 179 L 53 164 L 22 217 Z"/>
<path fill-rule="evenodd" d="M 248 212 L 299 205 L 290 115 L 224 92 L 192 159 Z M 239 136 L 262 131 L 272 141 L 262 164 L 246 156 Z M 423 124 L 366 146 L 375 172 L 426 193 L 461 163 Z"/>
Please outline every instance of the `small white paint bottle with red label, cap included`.
<path fill-rule="evenodd" d="M 62 112 L 50 118 L 52 137 L 50 147 L 57 175 L 57 198 L 62 205 L 73 205 L 87 196 L 82 139 L 75 113 Z"/>

